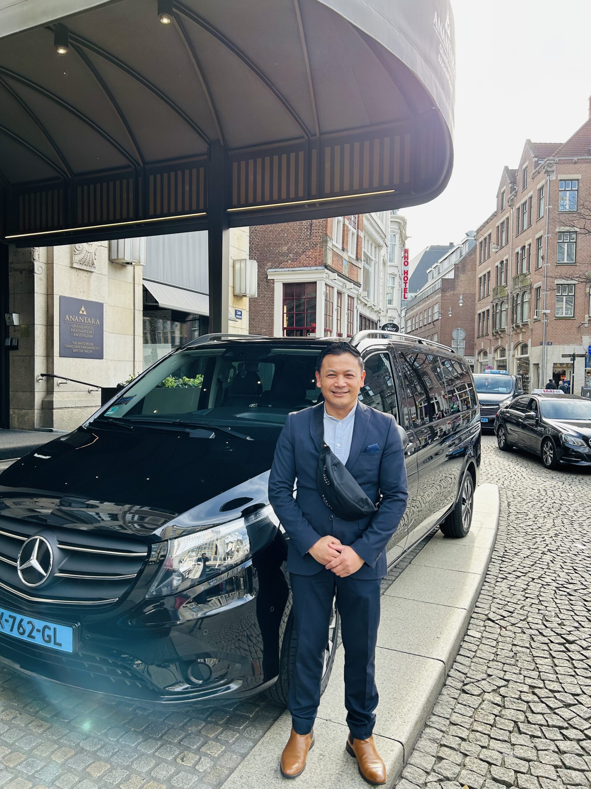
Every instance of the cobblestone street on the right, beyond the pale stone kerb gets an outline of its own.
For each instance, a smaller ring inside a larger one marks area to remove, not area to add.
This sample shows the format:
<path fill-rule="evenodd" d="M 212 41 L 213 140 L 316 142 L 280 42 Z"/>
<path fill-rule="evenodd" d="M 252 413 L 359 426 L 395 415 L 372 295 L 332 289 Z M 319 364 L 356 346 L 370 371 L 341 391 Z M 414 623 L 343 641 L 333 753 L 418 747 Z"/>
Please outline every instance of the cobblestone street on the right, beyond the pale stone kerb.
<path fill-rule="evenodd" d="M 591 786 L 591 474 L 483 438 L 500 484 L 485 585 L 397 789 Z"/>

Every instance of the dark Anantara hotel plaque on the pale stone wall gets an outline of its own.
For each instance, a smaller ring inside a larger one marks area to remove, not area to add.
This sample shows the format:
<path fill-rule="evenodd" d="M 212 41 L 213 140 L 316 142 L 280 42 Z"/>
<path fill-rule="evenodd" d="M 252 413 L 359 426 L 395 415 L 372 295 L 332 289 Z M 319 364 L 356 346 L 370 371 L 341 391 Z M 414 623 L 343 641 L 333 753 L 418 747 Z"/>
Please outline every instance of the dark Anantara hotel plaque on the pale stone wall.
<path fill-rule="evenodd" d="M 60 296 L 60 356 L 102 359 L 101 301 Z"/>

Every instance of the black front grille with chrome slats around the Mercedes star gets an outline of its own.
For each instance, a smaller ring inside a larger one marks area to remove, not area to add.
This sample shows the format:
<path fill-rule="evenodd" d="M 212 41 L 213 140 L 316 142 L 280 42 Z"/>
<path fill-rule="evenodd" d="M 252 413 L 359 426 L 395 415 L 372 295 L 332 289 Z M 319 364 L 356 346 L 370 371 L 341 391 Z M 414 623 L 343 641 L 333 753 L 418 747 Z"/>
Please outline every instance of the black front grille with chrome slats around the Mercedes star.
<path fill-rule="evenodd" d="M 54 569 L 45 583 L 28 587 L 18 577 L 17 558 L 24 541 L 39 533 L 57 543 Z M 131 588 L 147 553 L 145 543 L 126 535 L 0 518 L 0 590 L 39 603 L 114 603 Z"/>

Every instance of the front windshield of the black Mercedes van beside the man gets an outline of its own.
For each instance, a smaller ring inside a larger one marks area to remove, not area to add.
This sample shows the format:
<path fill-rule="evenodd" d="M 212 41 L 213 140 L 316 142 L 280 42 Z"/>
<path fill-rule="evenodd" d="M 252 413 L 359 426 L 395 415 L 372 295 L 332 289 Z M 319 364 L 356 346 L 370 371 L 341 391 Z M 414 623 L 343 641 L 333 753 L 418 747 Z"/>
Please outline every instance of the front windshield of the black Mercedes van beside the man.
<path fill-rule="evenodd" d="M 318 401 L 320 350 L 269 343 L 182 350 L 132 384 L 99 417 L 136 427 L 205 423 L 255 436 L 251 428 L 281 428 L 290 411 Z"/>

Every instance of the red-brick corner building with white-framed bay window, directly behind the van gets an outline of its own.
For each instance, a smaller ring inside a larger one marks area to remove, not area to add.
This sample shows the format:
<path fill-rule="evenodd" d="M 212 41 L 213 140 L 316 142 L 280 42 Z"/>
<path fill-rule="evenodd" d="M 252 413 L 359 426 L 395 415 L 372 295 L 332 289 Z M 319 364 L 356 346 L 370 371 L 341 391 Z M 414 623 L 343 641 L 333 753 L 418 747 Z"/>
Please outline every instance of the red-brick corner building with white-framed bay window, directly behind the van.
<path fill-rule="evenodd" d="M 267 336 L 341 336 L 387 320 L 388 212 L 251 228 L 258 297 L 249 326 Z"/>

